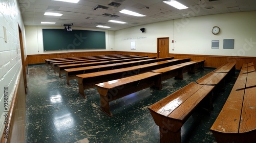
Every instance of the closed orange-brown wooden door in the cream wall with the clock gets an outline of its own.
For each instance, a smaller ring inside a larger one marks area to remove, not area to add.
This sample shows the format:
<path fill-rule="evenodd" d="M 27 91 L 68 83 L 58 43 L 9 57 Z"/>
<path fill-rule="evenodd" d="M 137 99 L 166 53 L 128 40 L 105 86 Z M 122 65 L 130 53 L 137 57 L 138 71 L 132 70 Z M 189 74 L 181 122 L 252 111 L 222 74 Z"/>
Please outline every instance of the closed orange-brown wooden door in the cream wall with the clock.
<path fill-rule="evenodd" d="M 169 57 L 169 37 L 157 38 L 157 57 Z"/>

